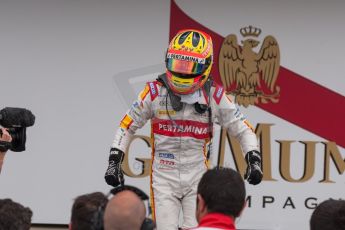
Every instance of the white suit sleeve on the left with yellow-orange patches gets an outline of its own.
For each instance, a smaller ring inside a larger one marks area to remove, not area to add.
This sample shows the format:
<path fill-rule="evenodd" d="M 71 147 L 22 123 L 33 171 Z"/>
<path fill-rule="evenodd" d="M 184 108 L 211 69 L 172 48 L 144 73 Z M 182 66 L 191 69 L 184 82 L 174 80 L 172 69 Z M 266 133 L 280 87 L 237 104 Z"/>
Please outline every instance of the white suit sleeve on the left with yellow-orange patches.
<path fill-rule="evenodd" d="M 117 148 L 126 152 L 131 137 L 137 129 L 143 127 L 147 120 L 152 117 L 150 88 L 146 84 L 143 91 L 138 95 L 138 99 L 133 102 L 131 108 L 120 122 L 111 148 Z"/>

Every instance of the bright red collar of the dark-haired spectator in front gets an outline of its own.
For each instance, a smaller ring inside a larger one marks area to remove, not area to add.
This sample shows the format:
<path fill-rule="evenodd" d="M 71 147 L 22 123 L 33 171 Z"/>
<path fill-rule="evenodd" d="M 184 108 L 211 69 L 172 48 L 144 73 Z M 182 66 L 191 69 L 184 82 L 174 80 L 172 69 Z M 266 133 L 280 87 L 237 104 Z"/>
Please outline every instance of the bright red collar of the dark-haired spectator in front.
<path fill-rule="evenodd" d="M 206 214 L 203 218 L 201 218 L 198 227 L 236 230 L 233 218 L 222 213 Z"/>

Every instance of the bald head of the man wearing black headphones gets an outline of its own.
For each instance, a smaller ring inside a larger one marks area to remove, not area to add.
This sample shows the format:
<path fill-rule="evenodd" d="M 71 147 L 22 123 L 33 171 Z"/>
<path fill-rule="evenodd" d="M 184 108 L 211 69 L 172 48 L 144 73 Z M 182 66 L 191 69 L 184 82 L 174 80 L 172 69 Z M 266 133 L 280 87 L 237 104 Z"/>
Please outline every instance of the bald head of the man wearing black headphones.
<path fill-rule="evenodd" d="M 104 213 L 104 229 L 139 230 L 145 217 L 144 202 L 134 192 L 124 190 L 109 200 Z"/>

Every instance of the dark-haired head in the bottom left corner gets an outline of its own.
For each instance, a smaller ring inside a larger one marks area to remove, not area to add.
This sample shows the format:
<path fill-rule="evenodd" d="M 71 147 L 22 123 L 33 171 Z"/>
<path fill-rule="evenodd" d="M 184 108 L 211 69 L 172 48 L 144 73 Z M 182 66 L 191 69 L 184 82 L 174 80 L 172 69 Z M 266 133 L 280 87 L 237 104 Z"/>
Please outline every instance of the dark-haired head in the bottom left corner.
<path fill-rule="evenodd" d="M 0 229 L 29 230 L 32 211 L 11 199 L 0 200 Z"/>

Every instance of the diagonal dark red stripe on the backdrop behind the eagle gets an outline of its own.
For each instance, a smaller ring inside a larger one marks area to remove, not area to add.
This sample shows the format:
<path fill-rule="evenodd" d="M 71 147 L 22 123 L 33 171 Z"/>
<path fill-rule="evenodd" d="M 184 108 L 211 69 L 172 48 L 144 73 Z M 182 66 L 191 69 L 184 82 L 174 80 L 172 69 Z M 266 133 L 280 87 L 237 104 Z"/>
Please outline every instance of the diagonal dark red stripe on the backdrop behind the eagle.
<path fill-rule="evenodd" d="M 218 84 L 221 84 L 218 55 L 224 38 L 189 17 L 174 0 L 171 0 L 170 39 L 179 30 L 186 28 L 202 30 L 211 35 L 215 63 L 211 75 Z M 257 107 L 345 147 L 344 96 L 282 66 L 276 85 L 281 89 L 279 102 L 259 103 Z"/>

